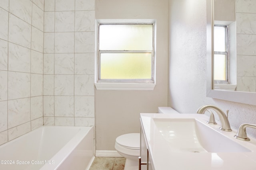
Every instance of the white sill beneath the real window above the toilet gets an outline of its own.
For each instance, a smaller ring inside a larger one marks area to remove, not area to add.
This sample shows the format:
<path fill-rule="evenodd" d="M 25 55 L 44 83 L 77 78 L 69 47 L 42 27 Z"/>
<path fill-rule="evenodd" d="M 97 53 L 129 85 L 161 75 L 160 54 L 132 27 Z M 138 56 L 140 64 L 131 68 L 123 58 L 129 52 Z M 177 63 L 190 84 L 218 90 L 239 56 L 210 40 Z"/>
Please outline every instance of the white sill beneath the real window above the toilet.
<path fill-rule="evenodd" d="M 95 83 L 97 90 L 154 90 L 155 83 Z"/>

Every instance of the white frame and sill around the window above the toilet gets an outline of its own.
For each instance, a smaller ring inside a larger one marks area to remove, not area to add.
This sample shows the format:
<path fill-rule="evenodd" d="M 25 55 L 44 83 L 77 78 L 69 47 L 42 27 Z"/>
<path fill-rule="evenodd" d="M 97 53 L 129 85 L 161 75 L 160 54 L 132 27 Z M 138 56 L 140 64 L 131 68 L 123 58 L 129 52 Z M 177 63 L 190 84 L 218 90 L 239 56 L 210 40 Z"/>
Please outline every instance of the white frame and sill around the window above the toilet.
<path fill-rule="evenodd" d="M 155 44 L 156 25 L 155 20 L 96 20 L 95 40 L 95 75 L 94 84 L 97 90 L 154 90 L 156 85 Z M 100 50 L 99 27 L 100 25 L 152 25 L 152 50 Z M 102 53 L 151 53 L 151 79 L 100 79 L 100 55 Z"/>

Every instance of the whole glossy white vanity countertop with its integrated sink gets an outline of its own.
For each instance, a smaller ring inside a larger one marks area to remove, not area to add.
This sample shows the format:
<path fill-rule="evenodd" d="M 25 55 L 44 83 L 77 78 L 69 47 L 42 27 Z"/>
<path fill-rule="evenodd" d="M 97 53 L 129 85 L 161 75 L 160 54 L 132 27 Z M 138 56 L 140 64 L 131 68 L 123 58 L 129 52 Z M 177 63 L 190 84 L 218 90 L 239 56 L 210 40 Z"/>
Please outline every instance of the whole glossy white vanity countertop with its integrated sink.
<path fill-rule="evenodd" d="M 141 113 L 152 169 L 256 170 L 256 139 L 235 139 L 235 129 L 222 131 L 220 124 L 206 123 L 208 119 L 202 114 Z"/>

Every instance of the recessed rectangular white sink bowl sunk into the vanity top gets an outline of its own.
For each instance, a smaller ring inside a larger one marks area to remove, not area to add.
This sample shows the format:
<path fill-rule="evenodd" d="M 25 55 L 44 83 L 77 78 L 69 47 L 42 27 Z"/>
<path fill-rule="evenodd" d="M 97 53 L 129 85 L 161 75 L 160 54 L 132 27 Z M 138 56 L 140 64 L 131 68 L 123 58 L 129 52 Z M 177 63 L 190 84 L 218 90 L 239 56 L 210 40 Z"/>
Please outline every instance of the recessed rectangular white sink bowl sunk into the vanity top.
<path fill-rule="evenodd" d="M 195 118 L 152 118 L 171 152 L 251 152 Z"/>

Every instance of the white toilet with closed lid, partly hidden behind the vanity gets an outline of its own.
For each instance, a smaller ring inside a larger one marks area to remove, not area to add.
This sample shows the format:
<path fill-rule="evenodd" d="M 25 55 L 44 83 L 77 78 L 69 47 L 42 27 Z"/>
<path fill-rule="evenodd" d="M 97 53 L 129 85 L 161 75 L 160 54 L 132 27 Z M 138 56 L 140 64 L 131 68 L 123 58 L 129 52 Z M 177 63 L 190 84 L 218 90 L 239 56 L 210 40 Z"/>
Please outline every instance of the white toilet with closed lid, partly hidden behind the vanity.
<path fill-rule="evenodd" d="M 158 107 L 158 113 L 178 114 L 171 107 Z M 115 149 L 126 158 L 124 170 L 138 170 L 140 156 L 140 133 L 128 133 L 116 138 Z"/>

